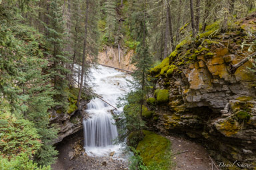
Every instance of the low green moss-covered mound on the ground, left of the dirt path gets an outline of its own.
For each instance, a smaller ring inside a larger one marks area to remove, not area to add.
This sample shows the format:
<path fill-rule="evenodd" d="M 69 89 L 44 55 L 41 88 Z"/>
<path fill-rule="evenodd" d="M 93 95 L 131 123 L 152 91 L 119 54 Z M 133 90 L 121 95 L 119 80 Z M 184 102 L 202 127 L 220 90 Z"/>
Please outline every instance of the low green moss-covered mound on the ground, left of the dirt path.
<path fill-rule="evenodd" d="M 145 137 L 139 141 L 137 151 L 149 169 L 167 170 L 171 168 L 171 141 L 151 131 L 143 131 Z"/>

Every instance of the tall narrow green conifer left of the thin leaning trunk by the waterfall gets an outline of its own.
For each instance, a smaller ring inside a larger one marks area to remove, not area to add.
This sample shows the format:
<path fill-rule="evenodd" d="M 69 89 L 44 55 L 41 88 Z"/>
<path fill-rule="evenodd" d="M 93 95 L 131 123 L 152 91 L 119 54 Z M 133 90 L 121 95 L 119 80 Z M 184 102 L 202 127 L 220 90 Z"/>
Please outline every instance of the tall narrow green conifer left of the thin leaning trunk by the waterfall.
<path fill-rule="evenodd" d="M 53 0 L 49 2 L 49 24 L 45 23 L 47 48 L 50 53 L 47 53 L 51 66 L 49 72 L 53 78 L 54 88 L 56 90 L 55 100 L 58 108 L 63 112 L 67 110 L 67 80 L 66 74 L 69 70 L 65 65 L 69 62 L 67 52 L 63 52 L 65 22 L 63 20 L 63 9 L 61 8 L 61 0 Z"/>

